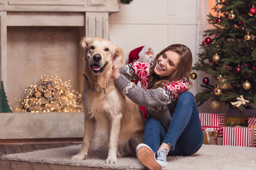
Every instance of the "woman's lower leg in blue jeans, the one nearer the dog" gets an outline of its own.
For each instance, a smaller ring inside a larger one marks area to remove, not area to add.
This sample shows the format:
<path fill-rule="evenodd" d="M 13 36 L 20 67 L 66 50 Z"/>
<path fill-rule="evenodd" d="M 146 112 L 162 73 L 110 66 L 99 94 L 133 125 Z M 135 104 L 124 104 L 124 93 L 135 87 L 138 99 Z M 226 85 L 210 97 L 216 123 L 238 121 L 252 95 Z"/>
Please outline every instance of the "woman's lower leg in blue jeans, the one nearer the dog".
<path fill-rule="evenodd" d="M 147 118 L 144 127 L 143 143 L 149 146 L 155 154 L 157 154 L 160 142 L 164 140 L 166 132 L 164 127 L 154 117 Z"/>

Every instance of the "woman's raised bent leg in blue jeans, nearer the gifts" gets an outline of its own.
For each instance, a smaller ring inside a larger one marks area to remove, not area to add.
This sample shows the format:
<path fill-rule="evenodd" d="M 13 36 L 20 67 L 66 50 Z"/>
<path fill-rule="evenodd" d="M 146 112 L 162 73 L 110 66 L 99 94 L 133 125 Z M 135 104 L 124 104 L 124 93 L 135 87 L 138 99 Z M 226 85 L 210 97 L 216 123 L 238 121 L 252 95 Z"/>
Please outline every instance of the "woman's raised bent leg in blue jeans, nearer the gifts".
<path fill-rule="evenodd" d="M 192 93 L 183 92 L 178 98 L 163 143 L 174 146 L 168 156 L 192 155 L 202 146 L 203 131 L 196 100 Z"/>

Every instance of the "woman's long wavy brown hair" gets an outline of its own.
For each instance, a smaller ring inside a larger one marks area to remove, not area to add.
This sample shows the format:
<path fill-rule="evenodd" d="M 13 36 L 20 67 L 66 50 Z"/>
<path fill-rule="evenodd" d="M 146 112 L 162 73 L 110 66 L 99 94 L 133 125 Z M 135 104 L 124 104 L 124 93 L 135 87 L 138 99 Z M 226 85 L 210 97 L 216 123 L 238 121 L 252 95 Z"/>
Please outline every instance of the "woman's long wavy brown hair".
<path fill-rule="evenodd" d="M 162 79 L 154 72 L 157 59 L 164 54 L 166 51 L 174 51 L 180 57 L 180 62 L 178 63 L 177 69 L 170 75 Z M 149 79 L 147 84 L 147 89 L 154 89 L 158 87 L 164 87 L 164 85 L 169 84 L 175 80 L 179 80 L 183 77 L 186 77 L 188 80 L 190 88 L 193 86 L 190 78 L 192 68 L 192 54 L 190 49 L 186 45 L 182 44 L 173 44 L 162 50 L 156 55 L 153 61 L 153 65 L 150 67 Z"/>

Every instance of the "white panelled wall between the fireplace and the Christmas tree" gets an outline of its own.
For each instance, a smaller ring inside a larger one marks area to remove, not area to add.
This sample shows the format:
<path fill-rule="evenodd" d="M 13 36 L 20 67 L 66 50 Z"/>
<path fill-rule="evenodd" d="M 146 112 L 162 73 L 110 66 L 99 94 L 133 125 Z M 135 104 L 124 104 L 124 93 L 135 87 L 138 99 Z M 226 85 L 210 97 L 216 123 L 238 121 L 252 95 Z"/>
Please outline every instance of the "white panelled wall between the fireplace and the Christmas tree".
<path fill-rule="evenodd" d="M 197 0 L 133 0 L 110 14 L 109 39 L 125 53 L 128 63 L 131 50 L 150 45 L 156 55 L 171 44 L 184 44 L 196 61 Z M 197 81 L 190 89 L 197 93 Z"/>

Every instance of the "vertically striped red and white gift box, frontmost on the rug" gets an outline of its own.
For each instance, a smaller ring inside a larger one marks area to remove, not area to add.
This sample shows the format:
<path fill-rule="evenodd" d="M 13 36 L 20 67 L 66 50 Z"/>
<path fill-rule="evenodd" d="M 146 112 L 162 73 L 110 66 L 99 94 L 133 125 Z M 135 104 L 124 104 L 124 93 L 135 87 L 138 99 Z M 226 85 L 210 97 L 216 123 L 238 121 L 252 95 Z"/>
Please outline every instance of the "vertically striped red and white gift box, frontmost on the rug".
<path fill-rule="evenodd" d="M 252 134 L 251 128 L 223 127 L 223 145 L 256 147 L 255 130 L 256 129 L 254 128 L 254 132 Z M 251 142 L 254 143 L 254 146 L 251 146 Z"/>

